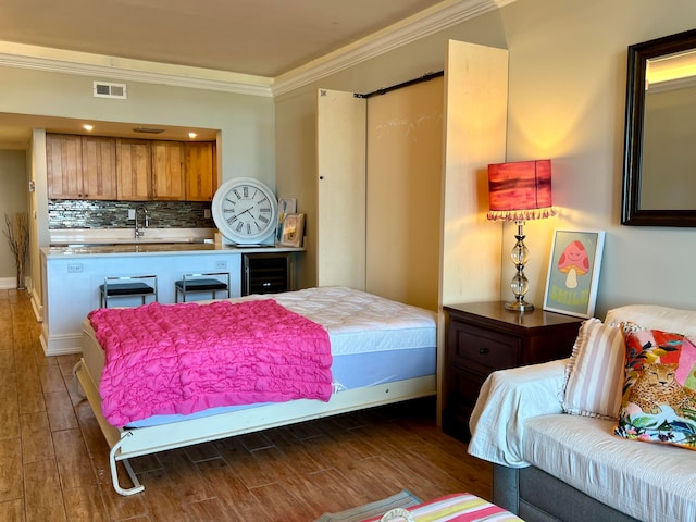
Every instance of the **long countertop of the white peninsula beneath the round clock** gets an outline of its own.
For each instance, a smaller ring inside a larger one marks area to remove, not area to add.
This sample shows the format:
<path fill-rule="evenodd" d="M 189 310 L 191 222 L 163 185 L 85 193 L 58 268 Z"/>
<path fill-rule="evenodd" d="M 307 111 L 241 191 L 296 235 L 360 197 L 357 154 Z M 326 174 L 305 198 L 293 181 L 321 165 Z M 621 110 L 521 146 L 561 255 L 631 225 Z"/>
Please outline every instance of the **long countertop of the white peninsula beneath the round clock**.
<path fill-rule="evenodd" d="M 47 258 L 90 258 L 95 256 L 133 256 L 133 254 L 196 254 L 196 253 L 257 253 L 257 252 L 301 252 L 303 248 L 268 246 L 237 246 L 220 243 L 142 243 L 111 245 L 71 245 L 63 247 L 44 247 L 41 252 Z"/>

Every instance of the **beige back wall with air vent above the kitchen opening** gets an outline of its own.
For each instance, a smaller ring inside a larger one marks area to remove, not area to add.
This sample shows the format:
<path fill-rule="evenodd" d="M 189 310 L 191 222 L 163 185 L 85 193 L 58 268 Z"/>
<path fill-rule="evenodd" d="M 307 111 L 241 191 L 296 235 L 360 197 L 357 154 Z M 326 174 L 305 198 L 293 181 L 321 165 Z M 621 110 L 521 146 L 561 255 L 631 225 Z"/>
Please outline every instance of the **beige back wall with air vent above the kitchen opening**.
<path fill-rule="evenodd" d="M 92 82 L 104 78 L 12 67 L 0 67 L 0 113 L 220 129 L 222 181 L 275 185 L 271 98 L 126 82 L 128 99 L 112 100 L 92 96 Z"/>

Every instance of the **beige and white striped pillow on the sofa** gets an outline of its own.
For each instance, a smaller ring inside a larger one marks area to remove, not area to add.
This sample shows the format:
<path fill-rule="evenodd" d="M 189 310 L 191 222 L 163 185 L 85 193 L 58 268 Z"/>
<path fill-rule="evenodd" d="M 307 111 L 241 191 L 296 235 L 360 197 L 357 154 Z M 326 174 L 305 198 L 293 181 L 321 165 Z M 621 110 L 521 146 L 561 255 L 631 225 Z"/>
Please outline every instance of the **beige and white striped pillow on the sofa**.
<path fill-rule="evenodd" d="M 566 366 L 563 411 L 618 419 L 625 351 L 621 327 L 602 324 L 594 318 L 583 322 Z"/>

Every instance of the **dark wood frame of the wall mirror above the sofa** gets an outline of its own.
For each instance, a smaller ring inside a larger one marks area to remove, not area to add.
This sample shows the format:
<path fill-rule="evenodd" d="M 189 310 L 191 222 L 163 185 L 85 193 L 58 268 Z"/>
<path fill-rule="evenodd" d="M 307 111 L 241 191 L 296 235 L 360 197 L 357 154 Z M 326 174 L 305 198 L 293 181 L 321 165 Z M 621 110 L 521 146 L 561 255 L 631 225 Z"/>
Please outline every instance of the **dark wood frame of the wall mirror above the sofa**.
<path fill-rule="evenodd" d="M 689 49 L 696 49 L 696 29 L 629 47 L 622 225 L 696 227 L 696 198 L 692 210 L 641 209 L 646 63 L 650 59 Z"/>

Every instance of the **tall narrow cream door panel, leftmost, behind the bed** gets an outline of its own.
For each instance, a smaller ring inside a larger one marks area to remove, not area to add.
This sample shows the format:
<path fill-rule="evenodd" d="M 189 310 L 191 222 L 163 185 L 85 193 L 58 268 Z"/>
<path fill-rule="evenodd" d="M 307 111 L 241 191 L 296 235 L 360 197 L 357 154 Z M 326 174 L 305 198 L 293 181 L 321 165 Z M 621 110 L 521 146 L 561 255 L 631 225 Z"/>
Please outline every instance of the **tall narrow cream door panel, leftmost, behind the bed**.
<path fill-rule="evenodd" d="M 365 100 L 316 98 L 316 284 L 365 289 Z"/>

